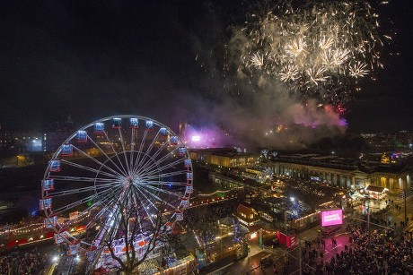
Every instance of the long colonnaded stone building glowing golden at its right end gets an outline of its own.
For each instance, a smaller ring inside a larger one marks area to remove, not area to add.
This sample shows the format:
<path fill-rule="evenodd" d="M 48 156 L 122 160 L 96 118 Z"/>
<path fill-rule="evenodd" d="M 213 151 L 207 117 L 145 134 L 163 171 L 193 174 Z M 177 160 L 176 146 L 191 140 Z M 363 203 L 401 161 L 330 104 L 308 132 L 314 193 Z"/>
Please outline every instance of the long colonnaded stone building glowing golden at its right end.
<path fill-rule="evenodd" d="M 407 163 L 384 165 L 338 156 L 294 154 L 281 155 L 267 165 L 276 175 L 320 181 L 342 188 L 364 189 L 375 185 L 389 189 L 390 193 L 400 193 L 412 186 L 413 168 Z"/>

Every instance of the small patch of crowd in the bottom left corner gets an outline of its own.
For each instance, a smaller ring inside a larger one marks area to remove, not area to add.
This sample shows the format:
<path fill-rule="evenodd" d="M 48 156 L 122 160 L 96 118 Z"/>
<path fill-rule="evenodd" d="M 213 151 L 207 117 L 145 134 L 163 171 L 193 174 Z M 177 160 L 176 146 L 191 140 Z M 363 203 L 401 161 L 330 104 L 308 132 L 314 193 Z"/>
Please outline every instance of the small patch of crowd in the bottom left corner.
<path fill-rule="evenodd" d="M 2 275 L 31 275 L 40 274 L 48 261 L 47 254 L 40 254 L 37 248 L 30 252 L 16 252 L 0 257 L 0 274 Z"/>

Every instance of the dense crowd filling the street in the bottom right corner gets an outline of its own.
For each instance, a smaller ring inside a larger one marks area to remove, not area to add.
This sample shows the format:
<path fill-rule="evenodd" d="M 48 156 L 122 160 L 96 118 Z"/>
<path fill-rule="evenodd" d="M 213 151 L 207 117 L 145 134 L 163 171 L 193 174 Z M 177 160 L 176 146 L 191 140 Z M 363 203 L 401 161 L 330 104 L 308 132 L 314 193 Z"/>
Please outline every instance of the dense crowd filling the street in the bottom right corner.
<path fill-rule="evenodd" d="M 329 245 L 337 247 L 334 237 Z M 363 226 L 351 228 L 348 245 L 325 259 L 325 241 L 306 243 L 303 249 L 304 274 L 413 274 L 412 232 L 394 236 L 382 228 L 370 235 Z"/>

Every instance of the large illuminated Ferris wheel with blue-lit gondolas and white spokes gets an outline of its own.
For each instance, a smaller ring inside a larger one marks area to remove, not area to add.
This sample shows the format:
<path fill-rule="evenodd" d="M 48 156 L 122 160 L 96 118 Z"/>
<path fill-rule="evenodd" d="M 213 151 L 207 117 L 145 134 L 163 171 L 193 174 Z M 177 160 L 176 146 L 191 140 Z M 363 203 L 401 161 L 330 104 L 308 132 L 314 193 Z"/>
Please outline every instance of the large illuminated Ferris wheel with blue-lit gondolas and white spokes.
<path fill-rule="evenodd" d="M 144 116 L 111 116 L 58 147 L 41 181 L 40 209 L 56 243 L 99 247 L 118 234 L 125 212 L 149 224 L 162 217 L 171 228 L 192 192 L 192 163 L 177 134 Z M 77 228 L 92 233 L 85 240 Z"/>

